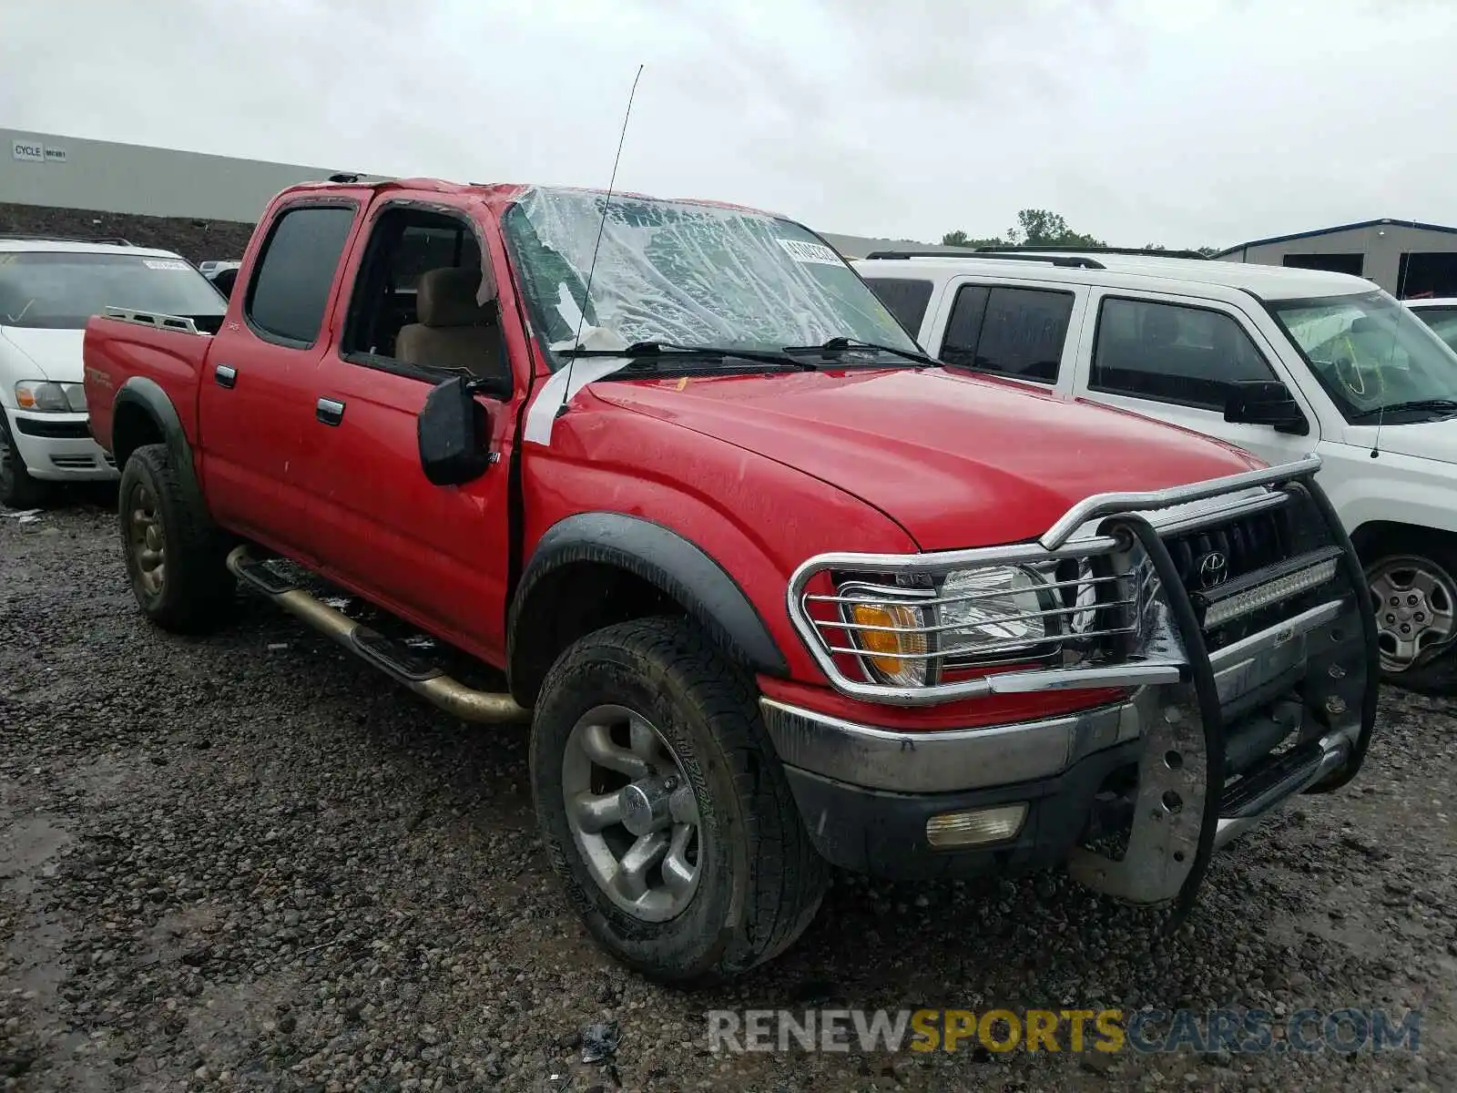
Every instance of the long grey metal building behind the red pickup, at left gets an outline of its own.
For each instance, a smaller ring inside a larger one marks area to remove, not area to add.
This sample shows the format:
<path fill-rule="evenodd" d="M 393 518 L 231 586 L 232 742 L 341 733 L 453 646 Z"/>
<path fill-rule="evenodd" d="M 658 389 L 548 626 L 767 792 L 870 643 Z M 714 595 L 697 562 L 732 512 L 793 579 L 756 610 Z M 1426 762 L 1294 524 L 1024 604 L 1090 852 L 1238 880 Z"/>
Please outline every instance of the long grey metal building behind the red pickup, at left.
<path fill-rule="evenodd" d="M 354 171 L 7 128 L 0 141 L 0 233 L 119 236 L 194 262 L 237 258 L 280 189 Z"/>

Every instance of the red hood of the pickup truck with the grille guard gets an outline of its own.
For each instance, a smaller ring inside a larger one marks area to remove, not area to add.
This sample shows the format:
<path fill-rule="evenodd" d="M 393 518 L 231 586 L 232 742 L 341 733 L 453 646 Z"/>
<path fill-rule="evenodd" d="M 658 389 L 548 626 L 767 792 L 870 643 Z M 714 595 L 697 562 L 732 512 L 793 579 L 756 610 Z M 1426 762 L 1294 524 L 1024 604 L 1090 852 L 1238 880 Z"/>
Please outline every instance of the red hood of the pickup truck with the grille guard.
<path fill-rule="evenodd" d="M 1263 466 L 1136 414 L 940 369 L 619 379 L 592 392 L 830 482 L 922 549 L 1033 539 L 1090 494 Z"/>

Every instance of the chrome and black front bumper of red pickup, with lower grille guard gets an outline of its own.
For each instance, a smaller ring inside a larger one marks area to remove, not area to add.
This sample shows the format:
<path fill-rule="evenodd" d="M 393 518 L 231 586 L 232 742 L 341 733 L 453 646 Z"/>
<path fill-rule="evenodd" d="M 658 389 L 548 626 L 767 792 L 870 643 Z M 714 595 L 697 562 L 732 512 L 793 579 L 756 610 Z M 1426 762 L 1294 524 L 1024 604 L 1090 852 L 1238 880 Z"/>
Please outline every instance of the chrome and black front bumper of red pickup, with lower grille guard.
<path fill-rule="evenodd" d="M 1123 702 L 906 732 L 761 700 L 819 851 L 889 877 L 1067 861 L 1109 895 L 1187 905 L 1215 850 L 1291 796 L 1348 781 L 1375 720 L 1375 627 L 1349 539 L 1319 487 L 1301 478 L 1289 488 L 1308 514 L 1304 542 L 1339 546 L 1336 576 L 1287 616 L 1238 640 L 1225 634 L 1214 649 L 1148 520 L 1104 520 L 1100 532 L 1139 541 L 1158 571 L 1174 640 L 1166 665 L 1179 665 L 1173 679 L 1135 686 Z M 934 816 L 1007 804 L 1026 804 L 1026 815 L 998 841 L 947 847 L 928 837 Z M 1110 832 L 1125 841 L 1122 853 L 1101 842 Z"/>

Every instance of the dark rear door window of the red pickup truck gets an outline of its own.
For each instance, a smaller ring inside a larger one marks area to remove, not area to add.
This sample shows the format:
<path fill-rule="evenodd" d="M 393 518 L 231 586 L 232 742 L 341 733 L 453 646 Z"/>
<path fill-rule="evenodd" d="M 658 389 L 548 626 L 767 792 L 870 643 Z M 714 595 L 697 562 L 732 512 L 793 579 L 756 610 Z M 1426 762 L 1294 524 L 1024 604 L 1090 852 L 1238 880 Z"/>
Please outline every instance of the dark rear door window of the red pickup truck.
<path fill-rule="evenodd" d="M 245 313 L 264 337 L 312 345 L 354 224 L 354 208 L 290 208 L 274 222 L 248 289 Z"/>

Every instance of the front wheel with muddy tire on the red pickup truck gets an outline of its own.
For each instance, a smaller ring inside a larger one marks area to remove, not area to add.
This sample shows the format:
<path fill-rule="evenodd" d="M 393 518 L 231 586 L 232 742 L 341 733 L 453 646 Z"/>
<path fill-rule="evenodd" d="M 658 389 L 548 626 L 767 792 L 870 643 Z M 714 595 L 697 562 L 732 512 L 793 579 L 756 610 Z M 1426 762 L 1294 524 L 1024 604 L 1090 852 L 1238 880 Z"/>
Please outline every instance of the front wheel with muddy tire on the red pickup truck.
<path fill-rule="evenodd" d="M 542 685 L 532 790 L 597 941 L 644 975 L 743 972 L 813 920 L 828 880 L 743 673 L 689 622 L 577 641 Z"/>

